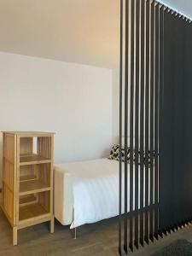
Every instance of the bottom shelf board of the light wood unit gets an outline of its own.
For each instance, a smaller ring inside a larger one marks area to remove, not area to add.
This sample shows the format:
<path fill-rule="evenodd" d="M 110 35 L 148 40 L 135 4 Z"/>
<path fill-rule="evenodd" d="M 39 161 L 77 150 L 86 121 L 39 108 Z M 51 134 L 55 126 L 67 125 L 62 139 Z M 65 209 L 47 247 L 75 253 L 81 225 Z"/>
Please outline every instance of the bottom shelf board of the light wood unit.
<path fill-rule="evenodd" d="M 25 207 L 20 207 L 19 220 L 29 220 L 30 218 L 40 217 L 45 214 L 49 214 L 49 212 L 47 212 L 40 204 L 34 203 Z"/>

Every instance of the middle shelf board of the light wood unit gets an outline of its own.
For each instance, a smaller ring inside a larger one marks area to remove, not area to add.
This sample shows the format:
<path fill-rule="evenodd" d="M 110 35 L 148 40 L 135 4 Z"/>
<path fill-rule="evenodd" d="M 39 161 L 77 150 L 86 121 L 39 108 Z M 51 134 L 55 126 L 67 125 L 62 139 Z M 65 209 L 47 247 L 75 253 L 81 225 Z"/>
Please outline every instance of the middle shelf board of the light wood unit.
<path fill-rule="evenodd" d="M 50 187 L 38 179 L 20 183 L 20 195 L 30 195 L 49 190 Z"/>

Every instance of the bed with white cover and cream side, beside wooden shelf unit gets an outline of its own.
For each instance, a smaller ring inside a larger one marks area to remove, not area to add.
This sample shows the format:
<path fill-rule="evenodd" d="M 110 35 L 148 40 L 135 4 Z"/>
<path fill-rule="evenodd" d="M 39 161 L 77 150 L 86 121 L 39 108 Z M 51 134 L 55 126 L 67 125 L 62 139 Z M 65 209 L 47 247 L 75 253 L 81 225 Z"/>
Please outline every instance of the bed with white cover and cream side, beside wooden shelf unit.
<path fill-rule="evenodd" d="M 55 218 L 61 224 L 74 229 L 118 214 L 119 161 L 100 159 L 55 166 Z"/>

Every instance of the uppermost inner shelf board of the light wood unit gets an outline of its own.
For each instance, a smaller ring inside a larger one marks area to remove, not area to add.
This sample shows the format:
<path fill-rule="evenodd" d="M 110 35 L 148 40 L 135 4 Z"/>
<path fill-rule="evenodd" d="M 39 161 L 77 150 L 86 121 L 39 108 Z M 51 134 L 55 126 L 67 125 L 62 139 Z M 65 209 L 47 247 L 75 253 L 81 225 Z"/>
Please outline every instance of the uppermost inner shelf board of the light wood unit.
<path fill-rule="evenodd" d="M 51 160 L 38 154 L 22 154 L 20 155 L 20 166 L 37 165 L 50 163 Z"/>

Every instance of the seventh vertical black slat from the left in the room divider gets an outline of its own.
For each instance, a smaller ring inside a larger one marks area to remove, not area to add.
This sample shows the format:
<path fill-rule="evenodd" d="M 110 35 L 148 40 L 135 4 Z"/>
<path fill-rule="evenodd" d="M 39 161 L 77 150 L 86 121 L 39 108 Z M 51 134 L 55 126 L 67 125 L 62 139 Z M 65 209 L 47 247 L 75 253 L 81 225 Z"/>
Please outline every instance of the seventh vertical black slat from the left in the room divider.
<path fill-rule="evenodd" d="M 151 3 L 150 20 L 150 210 L 149 238 L 154 241 L 154 8 Z"/>

